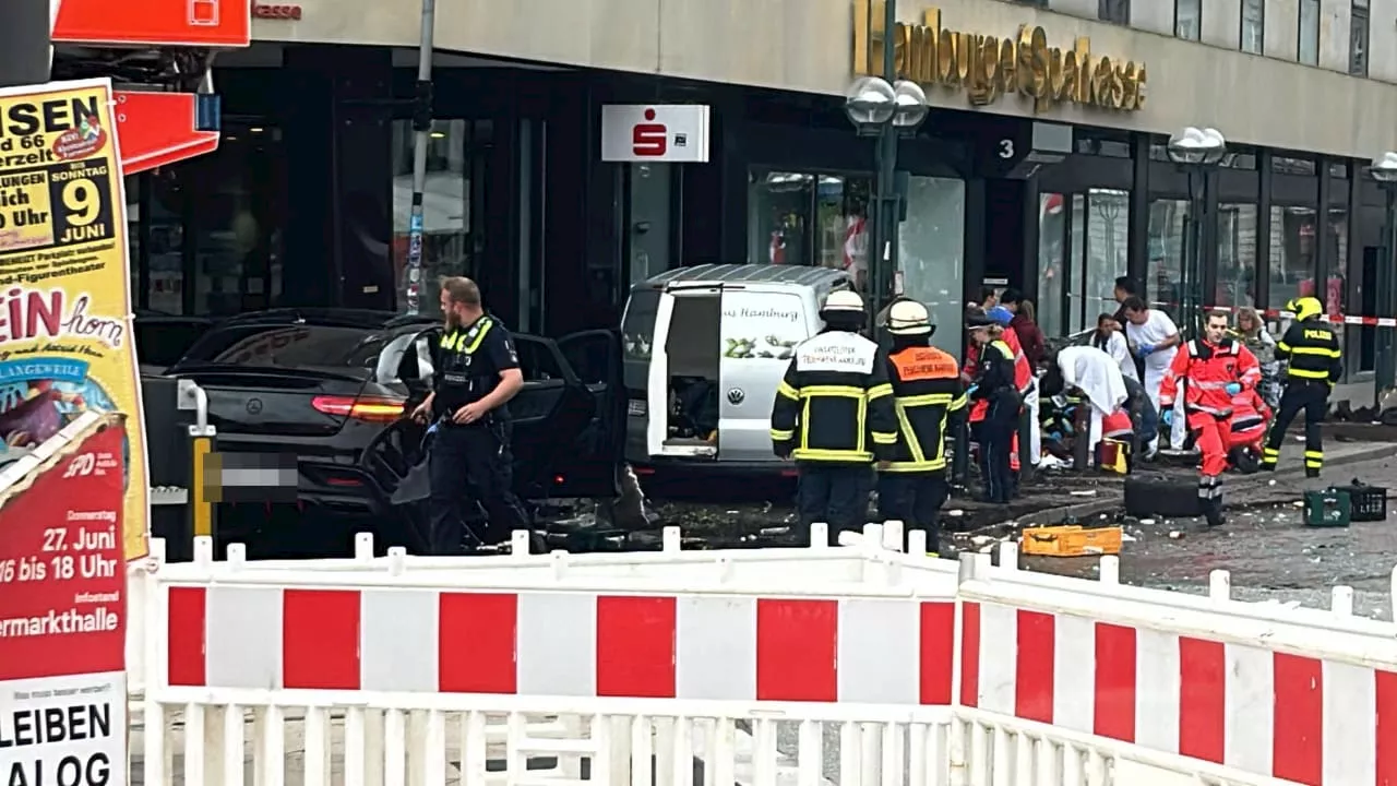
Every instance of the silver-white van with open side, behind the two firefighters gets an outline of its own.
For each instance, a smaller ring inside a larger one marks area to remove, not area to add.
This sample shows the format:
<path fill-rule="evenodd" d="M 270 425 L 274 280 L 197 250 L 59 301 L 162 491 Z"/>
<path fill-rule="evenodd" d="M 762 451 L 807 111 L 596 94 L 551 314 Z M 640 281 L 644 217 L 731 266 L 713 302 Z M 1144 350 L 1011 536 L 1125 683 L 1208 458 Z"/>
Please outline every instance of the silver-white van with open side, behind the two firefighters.
<path fill-rule="evenodd" d="M 640 466 L 789 470 L 771 453 L 771 403 L 842 270 L 701 264 L 631 287 L 622 319 L 626 457 Z"/>

